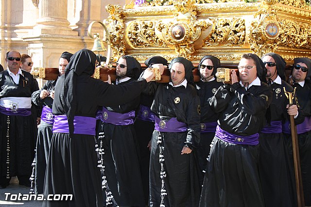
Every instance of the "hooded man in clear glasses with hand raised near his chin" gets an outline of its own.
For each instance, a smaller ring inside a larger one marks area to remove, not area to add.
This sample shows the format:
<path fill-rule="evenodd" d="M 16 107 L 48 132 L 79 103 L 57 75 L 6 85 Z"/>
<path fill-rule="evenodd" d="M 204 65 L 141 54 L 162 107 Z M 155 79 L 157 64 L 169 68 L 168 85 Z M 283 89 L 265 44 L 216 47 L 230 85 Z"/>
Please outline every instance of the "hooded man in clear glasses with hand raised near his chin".
<path fill-rule="evenodd" d="M 264 207 L 259 179 L 259 131 L 272 100 L 267 70 L 255 54 L 244 54 L 232 84 L 221 86 L 210 100 L 219 113 L 207 160 L 200 207 Z"/>

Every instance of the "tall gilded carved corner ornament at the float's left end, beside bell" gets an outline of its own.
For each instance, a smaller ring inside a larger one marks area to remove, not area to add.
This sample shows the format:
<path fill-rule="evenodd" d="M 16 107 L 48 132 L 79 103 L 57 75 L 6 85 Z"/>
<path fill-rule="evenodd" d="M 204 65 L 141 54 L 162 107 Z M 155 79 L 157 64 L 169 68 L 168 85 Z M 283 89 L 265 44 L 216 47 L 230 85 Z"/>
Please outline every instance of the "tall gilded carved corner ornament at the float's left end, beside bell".
<path fill-rule="evenodd" d="M 121 55 L 125 54 L 125 44 L 124 44 L 124 19 L 121 18 L 121 6 L 120 5 L 110 5 L 106 6 L 106 11 L 110 14 L 108 18 L 104 21 L 109 35 L 112 48 L 111 61 L 118 61 Z"/>

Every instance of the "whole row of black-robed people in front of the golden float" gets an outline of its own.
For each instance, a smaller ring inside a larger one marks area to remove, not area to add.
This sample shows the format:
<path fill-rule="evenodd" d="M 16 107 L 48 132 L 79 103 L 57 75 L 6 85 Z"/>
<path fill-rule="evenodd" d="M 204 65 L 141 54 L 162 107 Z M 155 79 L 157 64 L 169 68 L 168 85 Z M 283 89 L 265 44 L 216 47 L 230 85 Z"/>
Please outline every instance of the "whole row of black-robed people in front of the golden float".
<path fill-rule="evenodd" d="M 239 73 L 224 84 L 215 79 L 221 63 L 212 55 L 198 65 L 199 82 L 185 58 L 168 64 L 154 56 L 142 70 L 124 55 L 111 83 L 91 77 L 104 57 L 82 49 L 64 52 L 58 79 L 41 89 L 30 56 L 12 50 L 5 60 L 2 189 L 17 176 L 31 193 L 73 195 L 44 207 L 295 207 L 294 116 L 311 206 L 309 58 L 294 59 L 289 84 L 280 55 L 244 54 Z M 154 67 L 169 67 L 170 81 L 151 81 Z M 284 89 L 293 87 L 289 105 Z"/>

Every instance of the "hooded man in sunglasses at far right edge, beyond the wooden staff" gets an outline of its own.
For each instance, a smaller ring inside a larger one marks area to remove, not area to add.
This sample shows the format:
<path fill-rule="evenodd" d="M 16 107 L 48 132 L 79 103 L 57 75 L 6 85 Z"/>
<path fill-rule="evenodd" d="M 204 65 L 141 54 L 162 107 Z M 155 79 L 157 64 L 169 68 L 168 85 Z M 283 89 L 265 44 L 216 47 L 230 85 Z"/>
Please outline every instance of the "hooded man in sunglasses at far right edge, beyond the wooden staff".
<path fill-rule="evenodd" d="M 305 206 L 311 206 L 311 60 L 309 58 L 295 58 L 292 68 L 292 79 L 296 88 L 296 103 L 303 110 L 305 119 L 297 125 L 302 186 Z M 289 122 L 283 125 L 283 133 L 290 156 L 291 169 L 293 166 L 293 148 Z M 294 182 L 294 173 L 292 174 Z"/>

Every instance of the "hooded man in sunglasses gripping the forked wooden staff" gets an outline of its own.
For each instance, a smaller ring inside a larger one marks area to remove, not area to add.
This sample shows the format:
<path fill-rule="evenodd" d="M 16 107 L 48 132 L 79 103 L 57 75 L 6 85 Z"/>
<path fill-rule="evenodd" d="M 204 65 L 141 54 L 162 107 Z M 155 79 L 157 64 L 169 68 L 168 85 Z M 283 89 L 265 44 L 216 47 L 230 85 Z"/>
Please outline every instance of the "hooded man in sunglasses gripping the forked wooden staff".
<path fill-rule="evenodd" d="M 271 123 L 259 133 L 260 157 L 259 175 L 265 207 L 293 207 L 293 190 L 290 182 L 289 163 L 282 134 L 282 123 L 294 115 L 295 124 L 304 120 L 304 115 L 296 105 L 289 107 L 289 100 L 284 94 L 293 92 L 293 87 L 285 82 L 284 59 L 276 53 L 267 53 L 262 57 L 267 68 L 266 79 L 273 89 L 270 105 Z M 299 114 L 299 115 L 298 115 Z"/>

